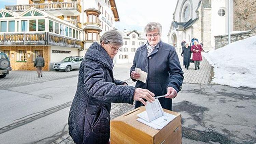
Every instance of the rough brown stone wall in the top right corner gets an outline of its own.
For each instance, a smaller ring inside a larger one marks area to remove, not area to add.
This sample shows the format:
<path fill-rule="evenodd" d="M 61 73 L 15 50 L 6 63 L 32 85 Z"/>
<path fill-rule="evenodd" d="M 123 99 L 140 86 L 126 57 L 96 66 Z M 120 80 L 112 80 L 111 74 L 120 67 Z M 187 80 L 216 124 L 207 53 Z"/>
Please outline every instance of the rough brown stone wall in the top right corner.
<path fill-rule="evenodd" d="M 256 27 L 256 0 L 233 0 L 233 30 Z"/>

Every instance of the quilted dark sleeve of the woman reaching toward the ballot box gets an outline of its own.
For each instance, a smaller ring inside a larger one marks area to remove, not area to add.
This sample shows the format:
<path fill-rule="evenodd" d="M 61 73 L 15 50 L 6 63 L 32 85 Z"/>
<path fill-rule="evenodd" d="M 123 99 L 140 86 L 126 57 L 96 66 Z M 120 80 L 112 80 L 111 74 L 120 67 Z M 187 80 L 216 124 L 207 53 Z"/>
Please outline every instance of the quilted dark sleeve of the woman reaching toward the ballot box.
<path fill-rule="evenodd" d="M 98 63 L 84 67 L 84 87 L 86 92 L 98 100 L 114 103 L 133 104 L 135 88 L 106 82 L 104 69 Z"/>

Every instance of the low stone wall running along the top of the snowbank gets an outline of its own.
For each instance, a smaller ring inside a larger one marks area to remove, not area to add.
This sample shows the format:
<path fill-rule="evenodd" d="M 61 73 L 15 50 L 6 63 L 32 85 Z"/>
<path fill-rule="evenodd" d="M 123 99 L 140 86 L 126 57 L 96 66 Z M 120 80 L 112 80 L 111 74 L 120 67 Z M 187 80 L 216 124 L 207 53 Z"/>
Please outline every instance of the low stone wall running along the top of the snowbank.
<path fill-rule="evenodd" d="M 254 35 L 256 35 L 256 27 L 254 27 L 251 31 L 232 33 L 230 41 L 232 43 L 232 42 L 236 42 L 239 40 L 252 37 Z M 214 38 L 215 38 L 215 49 L 228 45 L 228 35 L 217 35 Z"/>

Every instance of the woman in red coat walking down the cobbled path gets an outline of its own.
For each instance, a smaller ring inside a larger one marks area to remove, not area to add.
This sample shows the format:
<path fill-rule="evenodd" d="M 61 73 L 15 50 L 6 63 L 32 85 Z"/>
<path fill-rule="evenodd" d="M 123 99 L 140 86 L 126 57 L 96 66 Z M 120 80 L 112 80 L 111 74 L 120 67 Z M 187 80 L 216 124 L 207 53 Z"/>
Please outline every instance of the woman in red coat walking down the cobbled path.
<path fill-rule="evenodd" d="M 202 55 L 201 55 L 202 50 L 203 49 L 202 49 L 201 45 L 198 44 L 198 41 L 194 41 L 194 45 L 191 46 L 191 52 L 193 53 L 192 60 L 194 60 L 194 63 L 195 63 L 195 70 L 200 69 L 199 68 L 200 61 L 203 60 Z"/>

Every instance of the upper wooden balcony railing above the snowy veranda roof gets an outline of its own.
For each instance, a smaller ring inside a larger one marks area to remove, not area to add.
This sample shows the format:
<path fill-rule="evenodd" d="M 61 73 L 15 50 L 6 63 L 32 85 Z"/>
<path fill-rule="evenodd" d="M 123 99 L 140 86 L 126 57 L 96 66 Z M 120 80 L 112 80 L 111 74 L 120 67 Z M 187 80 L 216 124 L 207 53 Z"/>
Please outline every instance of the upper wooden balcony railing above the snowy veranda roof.
<path fill-rule="evenodd" d="M 37 3 L 37 4 L 24 4 L 24 5 L 6 5 L 6 10 L 13 12 L 24 12 L 30 7 L 42 11 L 56 11 L 56 10 L 77 10 L 81 13 L 81 5 L 76 2 L 53 2 L 53 3 Z"/>

